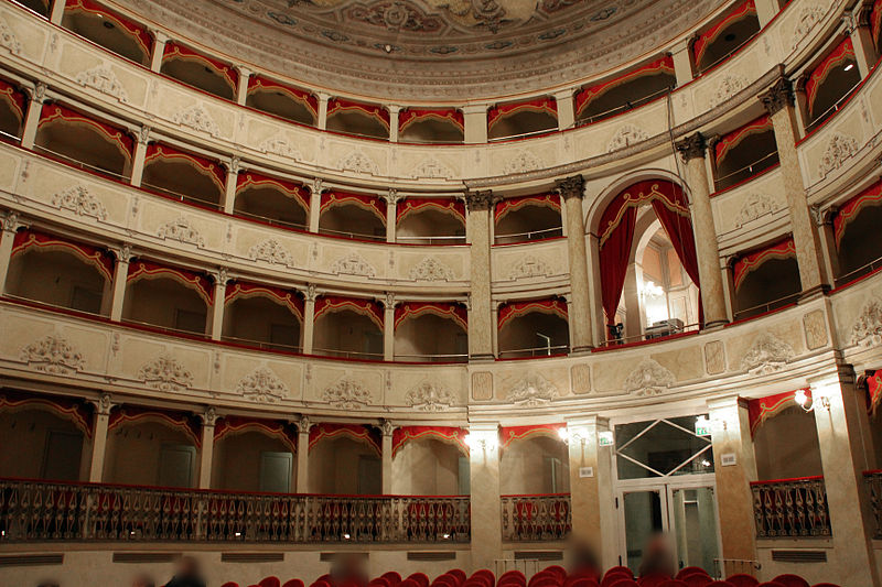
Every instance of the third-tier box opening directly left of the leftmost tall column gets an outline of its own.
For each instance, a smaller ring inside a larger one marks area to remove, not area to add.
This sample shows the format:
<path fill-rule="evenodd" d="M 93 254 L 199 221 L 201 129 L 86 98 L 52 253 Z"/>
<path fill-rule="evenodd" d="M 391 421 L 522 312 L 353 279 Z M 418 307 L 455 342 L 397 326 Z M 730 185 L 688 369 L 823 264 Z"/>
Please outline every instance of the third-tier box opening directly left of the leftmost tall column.
<path fill-rule="evenodd" d="M 395 308 L 395 360 L 469 360 L 466 316 L 460 304 L 399 304 Z"/>

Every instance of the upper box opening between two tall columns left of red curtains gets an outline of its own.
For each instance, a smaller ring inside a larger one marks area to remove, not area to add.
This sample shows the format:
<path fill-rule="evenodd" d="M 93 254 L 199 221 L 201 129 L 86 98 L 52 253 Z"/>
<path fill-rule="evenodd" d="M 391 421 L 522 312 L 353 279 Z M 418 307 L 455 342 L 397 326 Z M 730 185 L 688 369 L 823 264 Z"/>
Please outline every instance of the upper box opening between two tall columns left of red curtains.
<path fill-rule="evenodd" d="M 544 194 L 506 198 L 494 211 L 494 243 L 513 244 L 563 235 L 560 196 Z"/>

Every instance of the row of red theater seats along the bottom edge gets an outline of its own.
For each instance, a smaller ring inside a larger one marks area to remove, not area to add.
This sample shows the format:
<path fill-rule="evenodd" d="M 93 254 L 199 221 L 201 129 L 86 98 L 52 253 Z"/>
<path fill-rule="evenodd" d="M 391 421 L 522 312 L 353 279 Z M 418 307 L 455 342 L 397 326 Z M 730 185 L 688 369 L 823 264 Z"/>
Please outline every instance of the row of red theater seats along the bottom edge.
<path fill-rule="evenodd" d="M 236 583 L 226 583 L 222 587 L 239 587 Z M 249 587 L 305 587 L 300 579 L 290 579 L 284 584 L 277 577 L 266 577 Z M 364 581 L 336 581 L 331 575 L 319 577 L 310 587 L 365 587 Z M 746 574 L 732 575 L 725 580 L 714 580 L 703 568 L 686 567 L 676 577 L 660 574 L 645 575 L 635 578 L 630 568 L 617 566 L 609 569 L 603 576 L 593 570 L 581 570 L 568 574 L 563 567 L 550 566 L 535 574 L 529 581 L 519 570 L 508 570 L 499 576 L 487 569 L 476 570 L 467 576 L 459 568 L 439 575 L 433 581 L 424 573 L 415 573 L 401 579 L 395 572 L 367 583 L 366 587 L 811 587 L 798 575 L 779 575 L 767 583 L 760 583 Z M 839 587 L 832 583 L 819 583 L 814 587 Z"/>

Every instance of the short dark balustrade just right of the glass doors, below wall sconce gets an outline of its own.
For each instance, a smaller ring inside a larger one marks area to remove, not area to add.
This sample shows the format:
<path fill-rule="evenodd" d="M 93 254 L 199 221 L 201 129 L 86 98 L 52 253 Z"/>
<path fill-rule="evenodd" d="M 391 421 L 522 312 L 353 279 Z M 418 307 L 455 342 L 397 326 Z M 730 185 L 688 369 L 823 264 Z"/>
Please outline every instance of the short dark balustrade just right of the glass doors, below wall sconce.
<path fill-rule="evenodd" d="M 757 539 L 832 534 L 824 477 L 755 481 L 751 490 Z"/>

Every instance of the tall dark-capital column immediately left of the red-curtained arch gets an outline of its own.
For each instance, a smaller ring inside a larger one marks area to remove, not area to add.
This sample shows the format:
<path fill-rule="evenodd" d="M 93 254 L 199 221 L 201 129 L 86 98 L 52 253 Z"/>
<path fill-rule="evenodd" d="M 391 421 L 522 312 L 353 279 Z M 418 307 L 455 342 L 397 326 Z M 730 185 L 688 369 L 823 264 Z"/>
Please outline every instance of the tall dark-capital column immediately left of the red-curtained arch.
<path fill-rule="evenodd" d="M 581 175 L 558 180 L 555 187 L 563 199 L 567 220 L 567 257 L 570 261 L 570 348 L 590 350 L 594 340 L 591 328 L 591 296 L 588 290 L 588 252 L 582 198 L 585 181 Z"/>

